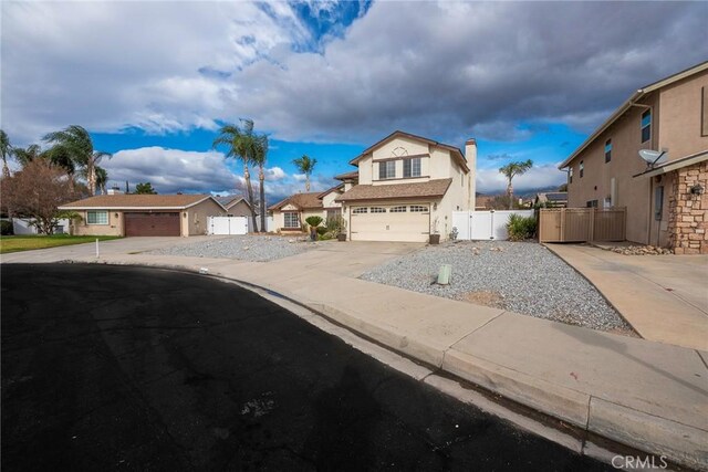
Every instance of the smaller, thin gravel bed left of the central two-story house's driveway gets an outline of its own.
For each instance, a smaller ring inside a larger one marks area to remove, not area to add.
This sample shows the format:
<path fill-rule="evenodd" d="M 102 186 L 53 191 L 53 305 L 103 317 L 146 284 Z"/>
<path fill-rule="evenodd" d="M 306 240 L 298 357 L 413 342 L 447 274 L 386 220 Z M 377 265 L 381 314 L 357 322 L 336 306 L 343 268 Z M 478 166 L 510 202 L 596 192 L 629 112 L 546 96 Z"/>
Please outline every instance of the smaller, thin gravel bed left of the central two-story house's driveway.
<path fill-rule="evenodd" d="M 267 262 L 300 254 L 317 247 L 304 237 L 233 235 L 194 244 L 180 244 L 150 251 L 148 254 L 187 255 L 192 258 L 228 258 Z"/>

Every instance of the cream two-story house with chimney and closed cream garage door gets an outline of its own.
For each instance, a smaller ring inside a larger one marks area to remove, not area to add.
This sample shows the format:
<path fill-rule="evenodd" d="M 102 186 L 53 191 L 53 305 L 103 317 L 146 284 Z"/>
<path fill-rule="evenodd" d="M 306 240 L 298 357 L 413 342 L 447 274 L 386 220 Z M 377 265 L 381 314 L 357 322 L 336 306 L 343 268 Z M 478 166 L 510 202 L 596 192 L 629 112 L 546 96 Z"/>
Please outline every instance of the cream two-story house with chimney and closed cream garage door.
<path fill-rule="evenodd" d="M 356 172 L 335 178 L 344 193 L 335 198 L 352 241 L 426 242 L 447 239 L 452 211 L 475 208 L 475 139 L 466 155 L 454 146 L 395 132 L 350 164 Z"/>

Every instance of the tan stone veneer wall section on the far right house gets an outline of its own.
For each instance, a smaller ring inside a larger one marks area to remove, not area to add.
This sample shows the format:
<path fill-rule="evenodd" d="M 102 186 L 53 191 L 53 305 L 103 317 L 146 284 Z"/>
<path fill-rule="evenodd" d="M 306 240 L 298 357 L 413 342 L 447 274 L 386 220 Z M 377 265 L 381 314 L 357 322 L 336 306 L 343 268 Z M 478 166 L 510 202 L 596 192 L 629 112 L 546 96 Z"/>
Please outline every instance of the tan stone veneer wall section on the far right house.
<path fill-rule="evenodd" d="M 669 248 L 676 254 L 708 254 L 708 161 L 675 171 L 669 196 Z M 700 183 L 704 193 L 691 195 Z"/>

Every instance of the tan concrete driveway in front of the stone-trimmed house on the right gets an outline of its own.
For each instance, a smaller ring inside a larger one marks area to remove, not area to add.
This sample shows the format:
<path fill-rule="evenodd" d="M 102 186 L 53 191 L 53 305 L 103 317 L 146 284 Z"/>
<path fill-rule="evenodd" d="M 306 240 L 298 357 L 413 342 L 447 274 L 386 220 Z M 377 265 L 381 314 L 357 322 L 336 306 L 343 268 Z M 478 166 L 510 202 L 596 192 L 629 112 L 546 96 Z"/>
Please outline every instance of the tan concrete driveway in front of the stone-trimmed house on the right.
<path fill-rule="evenodd" d="M 623 255 L 545 244 L 583 274 L 645 339 L 708 350 L 708 255 Z"/>

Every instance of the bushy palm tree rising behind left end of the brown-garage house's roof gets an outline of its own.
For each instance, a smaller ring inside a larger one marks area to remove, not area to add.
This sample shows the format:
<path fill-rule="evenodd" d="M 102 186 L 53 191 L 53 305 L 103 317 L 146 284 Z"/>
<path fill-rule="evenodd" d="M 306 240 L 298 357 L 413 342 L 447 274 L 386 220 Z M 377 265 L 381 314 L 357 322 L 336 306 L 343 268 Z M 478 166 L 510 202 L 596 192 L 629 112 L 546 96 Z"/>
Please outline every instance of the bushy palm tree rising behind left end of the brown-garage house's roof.
<path fill-rule="evenodd" d="M 79 125 L 71 125 L 61 132 L 50 133 L 44 136 L 52 148 L 59 150 L 60 156 L 69 156 L 79 167 L 84 169 L 86 183 L 91 195 L 96 195 L 96 165 L 104 157 L 111 158 L 110 153 L 94 150 L 93 140 L 87 130 Z"/>

